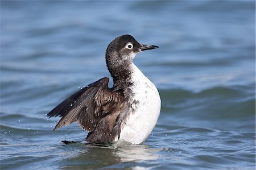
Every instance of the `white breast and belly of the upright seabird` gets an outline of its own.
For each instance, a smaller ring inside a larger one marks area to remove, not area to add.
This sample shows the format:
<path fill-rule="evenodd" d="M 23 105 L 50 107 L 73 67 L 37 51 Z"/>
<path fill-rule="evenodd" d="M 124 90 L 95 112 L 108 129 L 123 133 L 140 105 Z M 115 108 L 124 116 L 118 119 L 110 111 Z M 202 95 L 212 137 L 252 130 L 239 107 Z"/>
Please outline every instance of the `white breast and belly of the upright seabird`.
<path fill-rule="evenodd" d="M 134 113 L 123 122 L 119 140 L 132 144 L 143 143 L 151 134 L 160 114 L 161 100 L 155 85 L 133 64 L 134 93 L 131 110 Z"/>

